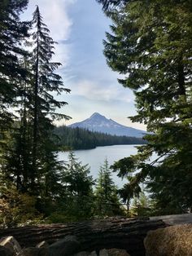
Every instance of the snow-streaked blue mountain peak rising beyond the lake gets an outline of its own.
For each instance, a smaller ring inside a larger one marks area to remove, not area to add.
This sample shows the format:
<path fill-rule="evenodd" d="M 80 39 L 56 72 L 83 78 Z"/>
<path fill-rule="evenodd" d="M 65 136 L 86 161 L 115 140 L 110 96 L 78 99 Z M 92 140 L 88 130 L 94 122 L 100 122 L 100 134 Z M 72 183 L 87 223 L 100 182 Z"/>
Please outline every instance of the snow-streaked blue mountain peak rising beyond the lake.
<path fill-rule="evenodd" d="M 116 121 L 107 119 L 99 113 L 94 113 L 84 121 L 76 122 L 68 127 L 80 127 L 91 131 L 99 131 L 110 135 L 125 135 L 129 137 L 142 138 L 146 134 L 145 130 L 137 130 L 132 127 L 122 126 Z"/>

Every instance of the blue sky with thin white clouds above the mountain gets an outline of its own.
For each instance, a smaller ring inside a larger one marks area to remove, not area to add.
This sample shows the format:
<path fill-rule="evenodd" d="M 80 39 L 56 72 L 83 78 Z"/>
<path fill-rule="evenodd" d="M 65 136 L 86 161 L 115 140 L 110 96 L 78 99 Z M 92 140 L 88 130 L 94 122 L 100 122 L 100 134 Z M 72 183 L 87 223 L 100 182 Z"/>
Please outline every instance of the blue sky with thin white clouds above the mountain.
<path fill-rule="evenodd" d="M 59 112 L 72 120 L 59 124 L 69 125 L 98 112 L 125 126 L 145 129 L 127 118 L 136 113 L 133 93 L 121 86 L 117 82 L 120 75 L 107 67 L 103 39 L 110 31 L 111 20 L 102 7 L 95 0 L 29 0 L 24 20 L 31 20 L 36 5 L 51 37 L 59 43 L 55 60 L 63 64 L 59 74 L 65 87 L 72 90 L 69 95 L 59 96 L 68 102 Z"/>

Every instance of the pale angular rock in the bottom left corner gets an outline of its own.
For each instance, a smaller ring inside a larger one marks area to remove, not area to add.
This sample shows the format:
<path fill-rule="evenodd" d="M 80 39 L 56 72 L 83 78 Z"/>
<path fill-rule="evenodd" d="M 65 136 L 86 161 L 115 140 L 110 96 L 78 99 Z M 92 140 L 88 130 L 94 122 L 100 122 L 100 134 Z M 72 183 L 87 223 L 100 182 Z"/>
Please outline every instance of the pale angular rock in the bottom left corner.
<path fill-rule="evenodd" d="M 17 255 L 21 251 L 20 244 L 13 236 L 2 237 L 0 239 L 0 245 L 9 249 L 11 251 L 11 255 Z"/>

